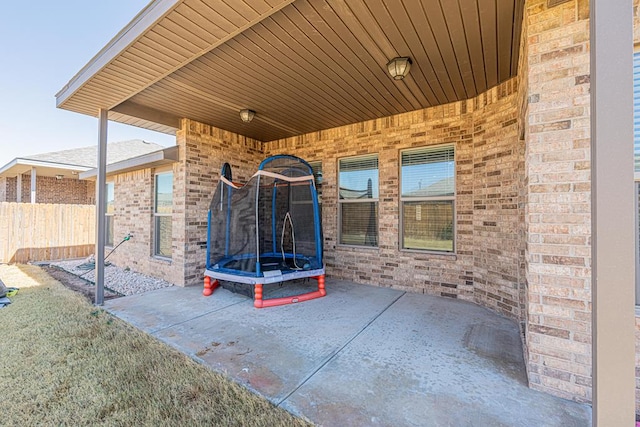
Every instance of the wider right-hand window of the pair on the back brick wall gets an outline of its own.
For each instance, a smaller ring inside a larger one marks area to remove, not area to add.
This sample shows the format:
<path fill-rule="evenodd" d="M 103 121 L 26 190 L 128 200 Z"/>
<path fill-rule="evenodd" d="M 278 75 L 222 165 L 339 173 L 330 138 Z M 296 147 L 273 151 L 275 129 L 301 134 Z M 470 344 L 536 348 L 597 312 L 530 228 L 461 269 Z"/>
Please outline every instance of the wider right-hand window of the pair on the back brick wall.
<path fill-rule="evenodd" d="M 453 252 L 455 161 L 453 146 L 401 153 L 403 249 Z"/>

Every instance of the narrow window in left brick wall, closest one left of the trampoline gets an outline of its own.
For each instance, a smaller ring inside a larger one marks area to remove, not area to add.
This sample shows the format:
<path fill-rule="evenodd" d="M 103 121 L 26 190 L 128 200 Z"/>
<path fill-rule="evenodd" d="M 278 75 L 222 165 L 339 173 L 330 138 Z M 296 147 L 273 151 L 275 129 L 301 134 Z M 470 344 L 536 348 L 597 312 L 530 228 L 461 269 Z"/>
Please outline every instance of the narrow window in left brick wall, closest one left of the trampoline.
<path fill-rule="evenodd" d="M 155 180 L 154 255 L 171 258 L 171 210 L 173 207 L 173 173 L 156 174 Z"/>

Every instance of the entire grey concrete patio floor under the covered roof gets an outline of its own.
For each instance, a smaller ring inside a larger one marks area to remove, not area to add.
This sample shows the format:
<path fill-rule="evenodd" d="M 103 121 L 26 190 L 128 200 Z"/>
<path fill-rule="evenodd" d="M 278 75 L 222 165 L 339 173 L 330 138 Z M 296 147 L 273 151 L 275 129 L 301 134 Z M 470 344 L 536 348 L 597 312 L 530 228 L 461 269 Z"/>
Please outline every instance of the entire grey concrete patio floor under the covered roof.
<path fill-rule="evenodd" d="M 225 289 L 177 287 L 105 308 L 318 425 L 591 425 L 588 405 L 526 386 L 515 322 L 448 298 L 327 289 L 261 310 Z"/>

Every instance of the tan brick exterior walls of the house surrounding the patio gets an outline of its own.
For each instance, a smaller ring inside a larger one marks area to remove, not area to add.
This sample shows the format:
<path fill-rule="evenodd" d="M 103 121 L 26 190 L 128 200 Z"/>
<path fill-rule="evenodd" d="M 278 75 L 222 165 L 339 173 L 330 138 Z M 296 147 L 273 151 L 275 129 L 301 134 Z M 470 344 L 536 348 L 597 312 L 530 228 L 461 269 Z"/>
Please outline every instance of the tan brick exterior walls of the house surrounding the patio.
<path fill-rule="evenodd" d="M 587 0 L 527 0 L 517 77 L 472 99 L 270 142 L 183 118 L 171 166 L 171 259 L 153 256 L 152 167 L 111 175 L 116 234 L 140 236 L 111 259 L 180 286 L 201 285 L 207 210 L 222 165 L 242 182 L 270 155 L 321 162 L 328 276 L 463 299 L 508 316 L 522 328 L 530 386 L 590 402 L 589 41 Z M 455 147 L 455 253 L 399 249 L 400 151 L 445 143 Z M 375 248 L 338 241 L 338 160 L 363 154 L 379 160 Z M 636 331 L 639 366 L 638 317 Z"/>

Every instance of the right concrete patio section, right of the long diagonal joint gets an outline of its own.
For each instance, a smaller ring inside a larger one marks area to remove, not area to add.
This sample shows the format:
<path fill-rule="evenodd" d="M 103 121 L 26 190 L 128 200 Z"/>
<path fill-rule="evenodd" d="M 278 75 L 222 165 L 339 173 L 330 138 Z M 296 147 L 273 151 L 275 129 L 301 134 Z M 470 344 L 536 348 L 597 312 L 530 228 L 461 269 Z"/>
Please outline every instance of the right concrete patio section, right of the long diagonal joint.
<path fill-rule="evenodd" d="M 326 426 L 590 425 L 589 408 L 527 387 L 512 321 L 411 293 L 281 406 Z"/>

